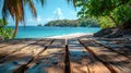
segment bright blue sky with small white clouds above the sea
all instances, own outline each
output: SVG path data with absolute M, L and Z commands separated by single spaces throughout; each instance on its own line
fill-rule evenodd
M 35 7 L 37 10 L 37 19 L 32 16 L 28 8 L 25 9 L 26 26 L 36 26 L 37 24 L 44 25 L 45 23 L 52 20 L 75 20 L 78 19 L 76 12 L 80 10 L 80 8 L 75 10 L 72 4 L 68 4 L 67 0 L 47 0 L 44 7 L 35 2 Z M 14 21 L 9 17 L 9 26 L 12 25 L 14 25 Z

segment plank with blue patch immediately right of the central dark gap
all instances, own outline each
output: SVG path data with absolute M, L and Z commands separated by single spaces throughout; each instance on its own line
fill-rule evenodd
M 74 44 L 73 47 L 71 44 Z M 69 44 L 71 73 L 110 73 L 110 71 L 90 52 L 87 52 L 79 41 Z M 103 70 L 102 70 L 103 69 Z

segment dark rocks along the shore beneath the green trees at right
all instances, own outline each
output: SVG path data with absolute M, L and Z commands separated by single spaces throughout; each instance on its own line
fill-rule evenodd
M 127 38 L 131 37 L 131 28 L 120 29 L 120 28 L 105 28 L 94 34 L 94 37 L 105 37 L 105 38 Z

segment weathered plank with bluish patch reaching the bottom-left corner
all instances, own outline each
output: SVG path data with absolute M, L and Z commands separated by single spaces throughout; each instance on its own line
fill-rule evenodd
M 41 46 L 32 45 L 32 46 L 24 48 L 23 50 L 19 52 L 15 52 L 15 53 L 12 53 L 5 57 L 4 59 L 2 59 L 3 63 L 1 63 L 0 65 L 0 72 L 5 71 L 3 73 L 9 73 L 9 72 L 10 73 L 13 73 L 13 72 L 23 73 L 23 71 L 21 70 L 25 69 L 26 63 L 28 63 L 32 59 L 34 59 L 35 56 L 37 56 L 40 52 L 40 50 L 43 50 L 41 48 L 39 49 L 39 47 Z M 33 50 L 31 49 L 36 49 L 35 50 L 36 52 L 33 52 Z

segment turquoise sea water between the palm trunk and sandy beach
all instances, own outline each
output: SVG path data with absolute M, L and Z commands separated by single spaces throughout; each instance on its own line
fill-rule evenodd
M 14 28 L 14 26 L 10 26 Z M 16 38 L 45 38 L 78 33 L 96 33 L 99 27 L 45 27 L 45 26 L 19 26 Z

